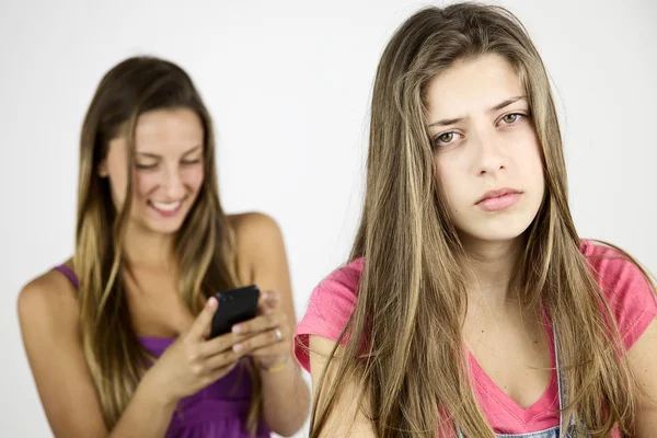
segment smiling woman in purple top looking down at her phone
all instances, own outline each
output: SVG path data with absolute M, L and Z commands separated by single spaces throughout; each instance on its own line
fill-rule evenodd
M 210 116 L 161 59 L 114 67 L 80 145 L 71 260 L 19 298 L 27 357 L 57 437 L 290 436 L 309 391 L 291 360 L 277 224 L 224 215 Z M 208 339 L 214 293 L 257 284 L 255 319 Z

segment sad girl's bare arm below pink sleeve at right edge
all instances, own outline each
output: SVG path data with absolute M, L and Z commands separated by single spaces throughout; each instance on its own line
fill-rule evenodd
M 657 430 L 657 320 L 653 320 L 627 356 L 641 388 L 635 436 L 654 437 Z

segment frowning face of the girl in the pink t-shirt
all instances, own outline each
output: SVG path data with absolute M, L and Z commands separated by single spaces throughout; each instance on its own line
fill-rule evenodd
M 537 216 L 545 183 L 516 71 L 498 55 L 458 61 L 431 80 L 427 97 L 436 177 L 461 239 L 519 237 Z

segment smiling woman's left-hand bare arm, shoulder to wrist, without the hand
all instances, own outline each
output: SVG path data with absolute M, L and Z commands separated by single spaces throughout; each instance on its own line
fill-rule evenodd
M 23 344 L 36 388 L 56 437 L 163 437 L 174 406 L 140 384 L 118 425 L 108 434 L 84 360 L 72 286 L 47 273 L 19 296 Z

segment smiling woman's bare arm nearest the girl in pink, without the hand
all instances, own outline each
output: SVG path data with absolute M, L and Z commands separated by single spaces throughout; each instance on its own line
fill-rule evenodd
M 246 275 L 243 275 L 246 278 L 243 280 L 255 283 L 262 291 L 274 290 L 279 298 L 277 313 L 286 326 L 286 349 L 283 354 L 287 356 L 287 362 L 275 367 L 278 369 L 276 372 L 261 370 L 260 377 L 265 423 L 276 434 L 291 436 L 308 418 L 310 391 L 301 376 L 301 368 L 292 357 L 291 336 L 297 319 L 283 235 L 276 222 L 261 214 L 242 215 L 239 219 L 233 219 L 233 223 L 239 263 L 247 267 Z M 262 338 L 266 339 L 265 336 Z M 254 342 L 257 344 L 258 339 L 253 338 L 251 345 L 245 344 L 245 353 L 254 354 L 255 360 L 258 360 L 257 350 L 251 350 L 257 347 Z

